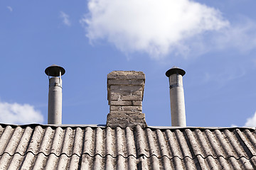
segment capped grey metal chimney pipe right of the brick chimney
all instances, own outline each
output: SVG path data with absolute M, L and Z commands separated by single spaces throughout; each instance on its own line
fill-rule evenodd
M 172 67 L 166 72 L 170 83 L 171 125 L 186 127 L 186 113 L 182 77 L 183 69 Z

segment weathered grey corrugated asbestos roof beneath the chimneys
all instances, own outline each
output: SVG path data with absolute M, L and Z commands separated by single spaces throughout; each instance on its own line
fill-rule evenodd
M 256 169 L 252 128 L 0 124 L 0 169 Z

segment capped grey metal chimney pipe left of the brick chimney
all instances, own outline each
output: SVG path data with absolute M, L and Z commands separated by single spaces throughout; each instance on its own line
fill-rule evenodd
M 62 123 L 62 79 L 65 69 L 58 65 L 47 67 L 46 75 L 49 79 L 48 94 L 48 124 Z M 50 78 L 51 77 L 51 78 Z

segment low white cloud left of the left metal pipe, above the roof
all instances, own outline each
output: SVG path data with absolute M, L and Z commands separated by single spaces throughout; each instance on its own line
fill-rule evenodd
M 0 102 L 0 122 L 9 124 L 43 123 L 43 115 L 29 104 Z

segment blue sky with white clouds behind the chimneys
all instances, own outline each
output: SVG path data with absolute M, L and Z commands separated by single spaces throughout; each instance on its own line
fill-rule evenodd
M 142 112 L 170 126 L 171 67 L 186 71 L 187 126 L 256 126 L 255 0 L 0 1 L 0 123 L 47 124 L 51 64 L 63 124 L 105 124 L 107 74 L 146 74 Z

